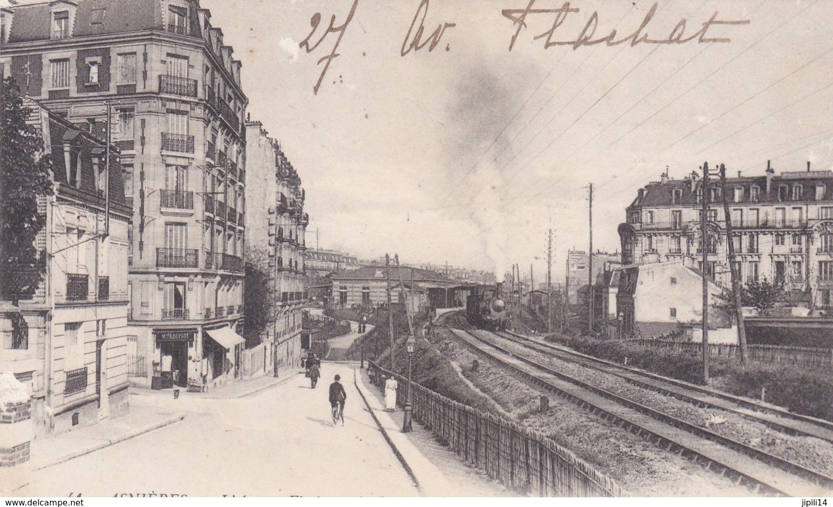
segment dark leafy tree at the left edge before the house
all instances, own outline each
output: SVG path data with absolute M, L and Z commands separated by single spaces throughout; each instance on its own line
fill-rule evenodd
M 52 157 L 42 134 L 27 124 L 11 77 L 0 90 L 0 299 L 31 299 L 45 274 L 46 253 L 37 251 L 37 233 L 46 226 L 39 198 L 52 195 Z

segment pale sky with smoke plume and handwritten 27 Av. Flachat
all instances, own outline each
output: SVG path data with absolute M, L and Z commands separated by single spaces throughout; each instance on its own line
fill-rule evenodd
M 590 184 L 594 251 L 612 252 L 626 206 L 666 167 L 833 166 L 833 2 L 658 0 L 640 36 L 696 37 L 615 46 L 554 42 L 594 22 L 590 40 L 625 39 L 653 1 L 574 0 L 559 15 L 562 0 L 536 0 L 551 12 L 523 26 L 502 14 L 530 3 L 202 0 L 242 61 L 247 111 L 302 177 L 308 246 L 499 279 L 532 265 L 542 281 L 552 228 L 558 281 L 566 251 L 588 248 Z

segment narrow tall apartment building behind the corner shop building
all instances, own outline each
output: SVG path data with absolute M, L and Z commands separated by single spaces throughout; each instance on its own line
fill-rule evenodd
M 249 206 L 247 246 L 266 251 L 262 259 L 276 305 L 267 343 L 265 367 L 276 371 L 301 360 L 302 306 L 307 302 L 305 241 L 309 215 L 304 212 L 306 192 L 280 144 L 269 137 L 261 122 L 247 122 Z

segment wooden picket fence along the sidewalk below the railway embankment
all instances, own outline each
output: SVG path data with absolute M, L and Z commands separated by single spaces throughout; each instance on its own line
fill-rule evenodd
M 407 379 L 372 361 L 372 378 L 393 375 L 397 403 L 405 405 Z M 539 431 L 412 384 L 413 419 L 490 479 L 536 496 L 625 496 L 616 481 Z

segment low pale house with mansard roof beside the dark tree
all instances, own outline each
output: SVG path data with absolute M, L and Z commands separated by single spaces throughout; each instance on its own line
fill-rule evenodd
M 0 311 L 0 371 L 32 396 L 39 434 L 127 412 L 127 223 L 118 153 L 32 100 L 29 124 L 52 155 L 54 194 L 38 209 L 42 282 Z M 109 201 L 107 206 L 106 201 Z

